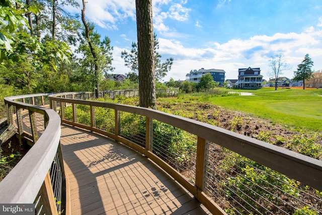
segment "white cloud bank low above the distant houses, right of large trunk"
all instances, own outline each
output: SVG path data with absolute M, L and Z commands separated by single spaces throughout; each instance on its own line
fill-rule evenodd
M 246 40 L 233 39 L 226 43 L 213 43 L 207 48 L 185 47 L 180 41 L 159 38 L 159 53 L 174 57 L 171 71 L 165 81 L 170 78 L 185 80 L 191 69 L 218 68 L 226 71 L 226 79 L 237 79 L 238 68 L 261 67 L 265 79 L 270 68 L 269 57 L 283 53 L 291 69 L 284 75 L 293 78 L 306 53 L 314 62 L 315 70 L 322 68 L 322 31 L 314 28 L 305 29 L 302 33 L 276 33 L 272 36 L 257 35 Z

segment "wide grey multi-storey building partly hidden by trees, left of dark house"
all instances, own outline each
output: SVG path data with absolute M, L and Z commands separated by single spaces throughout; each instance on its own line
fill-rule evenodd
M 211 68 L 211 69 L 201 68 L 198 71 L 196 69 L 191 70 L 190 73 L 186 75 L 186 80 L 190 82 L 199 83 L 201 77 L 208 73 L 210 73 L 210 75 L 212 76 L 212 79 L 215 82 L 219 82 L 219 85 L 223 85 L 223 83 L 225 82 L 226 72 L 223 69 L 215 69 L 215 68 Z

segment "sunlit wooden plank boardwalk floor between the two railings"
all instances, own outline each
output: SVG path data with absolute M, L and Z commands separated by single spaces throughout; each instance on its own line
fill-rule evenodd
M 171 176 L 108 137 L 61 126 L 71 214 L 209 214 Z

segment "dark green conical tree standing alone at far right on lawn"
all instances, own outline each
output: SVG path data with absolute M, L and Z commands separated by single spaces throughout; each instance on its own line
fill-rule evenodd
M 294 71 L 294 81 L 303 81 L 303 90 L 305 90 L 305 80 L 310 80 L 313 77 L 312 71 L 313 61 L 305 54 L 302 63 L 297 65 L 297 70 Z

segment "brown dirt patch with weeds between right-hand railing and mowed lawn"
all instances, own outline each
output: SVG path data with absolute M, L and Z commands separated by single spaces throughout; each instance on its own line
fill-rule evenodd
M 314 135 L 314 132 L 300 132 L 288 126 L 276 125 L 249 113 L 224 110 L 215 105 L 201 104 L 194 101 L 172 104 L 165 102 L 159 103 L 159 106 L 167 109 L 167 112 L 213 124 L 283 148 L 287 148 L 287 142 L 282 141 L 283 139 L 290 139 L 295 135 L 304 135 L 306 137 Z M 322 145 L 321 136 L 321 134 L 316 136 L 316 144 Z M 322 160 L 321 157 L 319 158 L 320 160 Z

